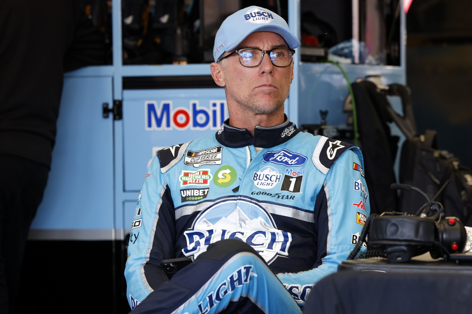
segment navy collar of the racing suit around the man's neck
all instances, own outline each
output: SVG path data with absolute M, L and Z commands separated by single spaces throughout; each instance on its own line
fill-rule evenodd
M 287 142 L 298 132 L 295 123 L 288 121 L 288 117 L 284 114 L 284 122 L 273 127 L 261 127 L 256 125 L 254 128 L 254 136 L 247 129 L 238 129 L 229 126 L 229 119 L 221 125 L 216 133 L 216 140 L 221 145 L 231 148 L 240 148 L 244 146 L 254 145 L 255 147 L 270 148 Z

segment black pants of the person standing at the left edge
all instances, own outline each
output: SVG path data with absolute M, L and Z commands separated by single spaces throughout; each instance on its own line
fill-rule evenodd
M 48 172 L 41 163 L 0 155 L 0 313 L 14 313 L 18 302 L 26 238 Z

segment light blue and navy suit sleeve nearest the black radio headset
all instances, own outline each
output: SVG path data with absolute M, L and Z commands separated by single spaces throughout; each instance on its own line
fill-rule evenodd
M 318 251 L 312 269 L 277 275 L 301 307 L 312 286 L 336 272 L 337 266 L 349 256 L 354 248 L 353 236 L 362 231 L 369 216 L 365 179 L 353 169 L 353 163 L 362 164 L 352 150 L 341 155 L 329 169 L 317 195 L 314 207 Z

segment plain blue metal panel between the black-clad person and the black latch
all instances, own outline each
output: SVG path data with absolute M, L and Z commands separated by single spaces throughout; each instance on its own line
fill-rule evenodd
M 56 145 L 32 229 L 113 228 L 111 77 L 66 78 Z

